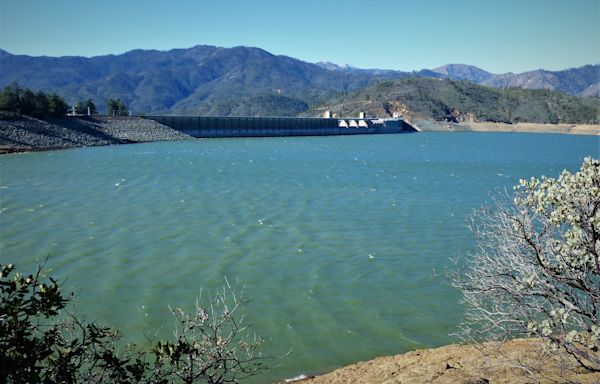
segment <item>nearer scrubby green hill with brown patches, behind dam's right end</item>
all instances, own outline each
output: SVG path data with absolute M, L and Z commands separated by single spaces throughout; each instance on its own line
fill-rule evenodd
M 468 81 L 405 78 L 370 85 L 320 104 L 306 115 L 430 118 L 504 123 L 600 123 L 600 98 L 544 89 L 489 88 Z

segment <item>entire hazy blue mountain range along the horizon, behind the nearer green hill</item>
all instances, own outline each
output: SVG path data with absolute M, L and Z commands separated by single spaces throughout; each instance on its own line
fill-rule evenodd
M 0 50 L 0 87 L 18 82 L 56 92 L 71 104 L 92 98 L 101 112 L 106 100 L 121 98 L 134 114 L 296 116 L 374 83 L 407 77 L 544 88 L 577 96 L 600 92 L 600 64 L 498 75 L 463 64 L 416 72 L 313 64 L 251 47 L 199 45 L 91 58 L 32 57 Z

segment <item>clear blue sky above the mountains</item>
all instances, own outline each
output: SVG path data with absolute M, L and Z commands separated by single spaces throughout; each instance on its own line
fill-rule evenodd
M 198 44 L 361 68 L 560 70 L 600 63 L 600 0 L 0 0 L 0 48 L 15 54 Z

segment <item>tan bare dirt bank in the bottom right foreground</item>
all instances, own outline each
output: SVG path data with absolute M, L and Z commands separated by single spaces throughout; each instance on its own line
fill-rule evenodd
M 586 384 L 600 383 L 600 373 L 586 373 L 574 359 L 545 352 L 540 340 L 515 339 L 505 343 L 448 345 L 378 357 L 294 383 Z

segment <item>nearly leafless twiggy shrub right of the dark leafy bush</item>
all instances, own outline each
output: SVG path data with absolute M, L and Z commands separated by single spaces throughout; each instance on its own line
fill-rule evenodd
M 220 384 L 238 383 L 265 371 L 263 339 L 249 332 L 241 313 L 243 291 L 238 294 L 226 280 L 206 305 L 202 299 L 201 293 L 193 314 L 171 308 L 175 340 L 159 342 L 154 349 L 170 374 L 184 383 Z

